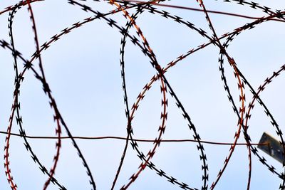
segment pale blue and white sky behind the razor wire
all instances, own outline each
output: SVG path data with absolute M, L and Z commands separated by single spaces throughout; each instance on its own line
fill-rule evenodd
M 285 4 L 282 1 L 256 2 L 272 9 L 283 9 Z M 0 10 L 16 3 L 17 1 L 1 1 Z M 88 1 L 86 4 L 101 12 L 112 9 L 106 2 Z M 196 1 L 170 1 L 167 4 L 199 8 Z M 234 3 L 207 0 L 204 4 L 209 10 L 265 16 L 259 10 Z M 32 7 L 40 44 L 73 23 L 92 16 L 76 6 L 67 4 L 66 1 L 43 1 L 32 4 Z M 157 9 L 169 11 L 211 33 L 203 13 L 162 7 L 157 7 Z M 8 16 L 8 13 L 0 16 L 0 38 L 5 41 L 9 41 Z M 25 58 L 30 58 L 35 51 L 28 16 L 28 11 L 24 7 L 14 18 L 16 49 Z M 218 36 L 252 21 L 214 14 L 210 14 L 210 17 Z M 126 19 L 120 13 L 109 18 L 118 21 L 120 26 L 125 26 Z M 163 66 L 182 53 L 207 42 L 195 31 L 158 15 L 146 12 L 139 16 L 137 22 L 155 52 L 157 60 Z M 239 69 L 255 89 L 271 76 L 273 71 L 279 70 L 284 64 L 284 29 L 284 23 L 281 22 L 261 23 L 256 28 L 237 36 L 229 45 L 229 55 L 236 60 Z M 135 30 L 132 28 L 130 32 L 134 34 Z M 110 28 L 102 19 L 95 20 L 63 36 L 41 54 L 48 84 L 61 115 L 74 136 L 126 136 L 125 106 L 120 78 L 120 38 L 121 35 L 115 28 Z M 6 131 L 13 98 L 14 70 L 11 52 L 1 49 L 0 56 L 0 130 Z M 203 140 L 232 142 L 234 132 L 237 130 L 237 117 L 232 111 L 232 105 L 227 99 L 227 93 L 220 79 L 218 58 L 219 49 L 208 46 L 171 68 L 166 73 L 166 77 Z M 21 64 L 22 62 L 19 61 L 20 67 Z M 38 69 L 38 62 L 34 65 Z M 237 102 L 239 98 L 237 80 L 227 62 L 225 62 L 225 72 L 229 88 Z M 130 41 L 127 42 L 125 48 L 125 73 L 131 106 L 156 72 L 151 67 L 148 58 Z M 284 130 L 285 125 L 282 111 L 285 106 L 284 79 L 282 73 L 261 94 L 262 100 L 269 107 L 281 130 Z M 41 88 L 41 83 L 33 77 L 33 74 L 27 73 L 21 85 L 20 96 L 24 128 L 28 135 L 53 136 L 56 123 L 53 122 L 53 111 L 48 105 L 48 97 L 44 95 Z M 248 88 L 246 96 L 246 105 L 248 105 L 252 100 Z M 135 114 L 134 137 L 155 139 L 160 125 L 161 98 L 160 83 L 156 83 L 147 93 Z M 168 99 L 167 128 L 163 139 L 192 139 L 193 134 L 188 129 L 187 122 L 183 120 L 180 110 L 175 106 L 175 101 L 170 95 Z M 238 103 L 237 106 L 239 106 Z M 12 131 L 19 132 L 16 123 Z M 271 127 L 264 111 L 256 104 L 252 119 L 249 120 L 249 134 L 252 142 L 258 142 L 264 131 L 276 137 L 275 130 Z M 66 136 L 64 130 L 63 136 Z M 1 134 L 0 147 L 4 148 L 4 140 L 5 135 Z M 23 139 L 19 137 L 11 137 L 10 167 L 14 181 L 19 189 L 41 189 L 47 176 L 44 176 L 33 162 L 23 142 Z M 55 154 L 56 140 L 35 139 L 29 142 L 41 162 L 50 168 Z M 98 189 L 110 189 L 125 142 L 114 139 L 78 139 L 76 142 L 92 170 Z M 239 142 L 244 142 L 242 136 Z M 139 145 L 145 153 L 152 148 L 152 143 L 139 143 Z M 222 167 L 229 146 L 204 144 L 204 149 L 209 165 L 210 185 Z M 264 153 L 261 155 L 266 157 L 269 164 L 274 165 L 277 171 L 282 171 L 279 162 Z M 189 184 L 190 187 L 200 189 L 202 186 L 201 163 L 195 143 L 161 143 L 152 162 L 157 168 Z M 6 181 L 3 165 L 4 162 L 0 169 L 0 189 L 6 190 L 9 189 L 9 184 Z M 139 165 L 140 159 L 136 156 L 136 152 L 129 148 L 115 189 L 120 189 L 123 184 L 127 184 L 128 178 L 137 171 Z M 247 172 L 247 148 L 236 147 L 216 189 L 246 189 Z M 81 159 L 78 158 L 76 150 L 68 139 L 64 139 L 62 143 L 56 179 L 67 189 L 90 189 Z M 279 189 L 280 182 L 277 176 L 271 174 L 256 157 L 253 157 L 252 189 Z M 57 187 L 51 184 L 49 189 L 57 189 Z M 157 176 L 154 171 L 145 169 L 130 189 L 179 188 Z

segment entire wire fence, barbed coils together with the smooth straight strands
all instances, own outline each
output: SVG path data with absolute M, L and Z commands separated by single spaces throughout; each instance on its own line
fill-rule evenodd
M 276 135 L 279 137 L 279 142 L 281 144 L 281 147 L 283 149 L 283 152 L 285 152 L 285 143 L 283 134 L 281 132 L 280 125 L 276 122 L 276 119 L 274 118 L 274 115 L 269 111 L 269 108 L 266 106 L 264 100 L 261 99 L 261 93 L 264 91 L 264 89 L 275 79 L 278 78 L 279 75 L 283 74 L 283 71 L 285 70 L 285 65 L 281 65 L 280 68 L 274 71 L 271 75 L 269 75 L 268 78 L 264 80 L 264 83 L 262 83 L 259 88 L 254 89 L 251 83 L 249 83 L 249 80 L 245 77 L 245 75 L 239 70 L 238 64 L 232 58 L 232 56 L 229 54 L 229 51 L 227 48 L 229 47 L 229 44 L 236 38 L 239 34 L 244 33 L 244 31 L 252 30 L 256 26 L 265 23 L 267 21 L 274 21 L 274 22 L 284 22 L 285 21 L 285 11 L 280 10 L 273 10 L 270 9 L 267 6 L 263 6 L 261 4 L 257 4 L 253 1 L 244 1 L 244 0 L 225 0 L 225 2 L 229 4 L 237 3 L 241 6 L 247 6 L 250 9 L 253 9 L 254 11 L 261 11 L 263 12 L 263 15 L 260 17 L 257 16 L 248 16 L 243 14 L 234 14 L 232 12 L 223 12 L 223 11 L 212 11 L 208 10 L 206 8 L 207 2 L 203 2 L 202 0 L 197 0 L 197 4 L 199 5 L 199 9 L 187 7 L 187 6 L 177 6 L 171 4 L 172 1 L 165 1 L 165 0 L 154 0 L 154 1 L 99 1 L 98 2 L 108 2 L 113 7 L 112 11 L 106 11 L 106 12 L 100 12 L 96 9 L 94 6 L 88 6 L 86 1 L 76 1 L 76 0 L 68 0 L 68 4 L 71 4 L 73 6 L 76 6 L 77 8 L 81 9 L 82 11 L 85 11 L 87 13 L 92 14 L 93 16 L 88 17 L 84 21 L 78 21 L 76 23 L 73 23 L 72 26 L 68 28 L 64 28 L 60 33 L 56 33 L 54 36 L 51 37 L 49 41 L 46 41 L 45 43 L 40 44 L 38 40 L 38 31 L 37 31 L 37 25 L 36 25 L 36 16 L 33 14 L 33 3 L 37 2 L 38 4 L 41 4 L 43 0 L 26 0 L 26 1 L 19 1 L 17 4 L 11 5 L 7 7 L 4 10 L 0 10 L 1 16 L 9 16 L 8 19 L 8 29 L 9 29 L 9 38 L 10 41 L 0 40 L 0 46 L 5 51 L 9 51 L 12 56 L 14 65 L 14 75 L 15 75 L 15 83 L 14 83 L 14 97 L 13 97 L 13 103 L 11 107 L 11 115 L 9 117 L 9 125 L 7 127 L 6 132 L 1 131 L 0 133 L 3 135 L 6 135 L 5 138 L 5 147 L 4 147 L 4 167 L 5 167 L 5 174 L 7 181 L 9 185 L 11 186 L 11 189 L 21 189 L 21 186 L 16 185 L 16 179 L 13 178 L 13 169 L 11 169 L 11 166 L 13 165 L 13 162 L 11 162 L 9 153 L 13 151 L 10 149 L 10 142 L 11 137 L 21 137 L 24 140 L 24 145 L 26 149 L 28 150 L 28 154 L 31 154 L 31 158 L 33 161 L 38 165 L 39 169 L 43 171 L 43 174 L 46 175 L 46 183 L 43 184 L 43 189 L 48 189 L 48 186 L 50 186 L 51 182 L 58 186 L 58 189 L 66 189 L 63 184 L 61 184 L 61 179 L 57 179 L 55 172 L 58 166 L 58 160 L 60 159 L 60 152 L 61 152 L 61 143 L 62 139 L 70 139 L 73 143 L 73 147 L 78 152 L 78 157 L 83 162 L 83 168 L 86 169 L 86 180 L 90 183 L 91 189 L 96 189 L 95 179 L 93 176 L 93 173 L 88 166 L 88 162 L 90 160 L 87 160 L 83 153 L 81 152 L 81 149 L 78 145 L 78 142 L 76 139 L 120 139 L 125 141 L 125 147 L 122 150 L 122 156 L 120 159 L 120 164 L 118 165 L 118 169 L 115 173 L 115 177 L 113 179 L 112 187 L 111 189 L 128 189 L 130 186 L 132 186 L 135 181 L 139 178 L 140 174 L 146 169 L 149 168 L 152 171 L 155 171 L 155 173 L 159 176 L 161 176 L 166 181 L 169 181 L 174 186 L 177 186 L 177 188 L 180 189 L 214 189 L 217 184 L 219 183 L 220 179 L 222 178 L 224 171 L 227 169 L 227 166 L 229 164 L 229 160 L 232 158 L 232 155 L 234 154 L 234 150 L 237 145 L 246 146 L 248 149 L 248 176 L 247 176 L 247 189 L 250 189 L 251 185 L 251 179 L 252 179 L 252 157 L 257 157 L 259 159 L 260 164 L 263 164 L 264 167 L 269 169 L 271 173 L 273 173 L 275 176 L 279 177 L 281 179 L 281 184 L 279 189 L 285 189 L 285 174 L 283 172 L 276 171 L 276 168 L 273 167 L 269 162 L 266 161 L 264 157 L 261 156 L 260 152 L 257 149 L 257 145 L 264 145 L 269 146 L 268 143 L 257 143 L 252 142 L 252 139 L 249 137 L 249 120 L 252 115 L 252 110 L 254 109 L 255 104 L 259 104 L 264 112 L 266 113 L 266 116 L 268 117 L 268 120 L 271 122 L 272 127 L 276 131 Z M 170 3 L 169 3 L 170 2 Z M 17 51 L 16 45 L 14 42 L 14 16 L 17 14 L 17 11 L 19 9 L 26 8 L 28 9 L 28 14 L 30 16 L 31 20 L 31 26 L 33 28 L 33 37 L 34 37 L 34 43 L 35 43 L 35 51 L 31 58 L 27 59 L 24 56 L 22 56 L 21 52 Z M 186 19 L 176 16 L 170 12 L 165 11 L 164 9 L 183 9 L 183 10 L 189 10 L 189 11 L 199 11 L 204 14 L 205 21 L 207 21 L 210 33 L 206 32 L 206 29 L 199 28 L 198 26 L 195 26 L 194 23 L 191 23 L 190 21 L 187 21 Z M 131 14 L 132 13 L 132 14 Z M 187 51 L 187 53 L 181 54 L 176 59 L 172 60 L 170 63 L 168 63 L 165 67 L 162 67 L 162 65 L 157 60 L 157 57 L 155 55 L 155 51 L 152 49 L 152 46 L 150 45 L 150 42 L 147 40 L 147 36 L 145 36 L 144 31 L 140 28 L 139 24 L 137 23 L 138 18 L 142 17 L 142 13 L 147 13 L 151 15 L 157 15 L 161 16 L 162 18 L 175 21 L 176 23 L 179 23 L 181 26 L 185 26 L 189 28 L 190 30 L 194 31 L 195 33 L 199 34 L 202 38 L 207 40 L 207 43 L 203 43 L 197 48 L 193 48 L 190 51 Z M 219 14 L 222 16 L 234 16 L 238 17 L 240 19 L 248 19 L 249 23 L 245 23 L 243 26 L 239 26 L 238 28 L 235 28 L 233 31 L 229 31 L 227 33 L 224 33 L 221 36 L 217 35 L 217 28 L 212 23 L 211 16 L 209 14 Z M 125 26 L 120 26 L 120 24 L 115 19 L 110 19 L 110 16 L 113 15 L 123 15 L 125 16 L 125 19 L 127 21 Z M 108 24 L 111 28 L 117 30 L 122 38 L 120 41 L 120 73 L 122 78 L 122 89 L 123 89 L 123 100 L 125 102 L 125 115 L 128 122 L 127 137 L 115 137 L 115 136 L 106 136 L 106 137 L 78 137 L 74 136 L 72 134 L 72 130 L 68 125 L 66 124 L 66 121 L 63 119 L 63 116 L 61 115 L 61 112 L 58 109 L 58 104 L 56 103 L 55 97 L 53 97 L 53 94 L 51 93 L 51 88 L 48 85 L 48 81 L 46 80 L 45 76 L 45 70 L 43 69 L 43 60 L 41 58 L 41 53 L 44 51 L 48 51 L 48 48 L 50 46 L 53 46 L 53 43 L 55 41 L 60 41 L 63 36 L 68 35 L 69 33 L 73 33 L 73 31 L 76 31 L 78 28 L 81 28 L 86 23 L 90 23 L 95 20 L 102 20 L 105 23 Z M 131 33 L 131 30 L 135 30 L 135 34 Z M 127 79 L 125 78 L 125 46 L 127 43 L 127 40 L 131 41 L 133 45 L 138 48 L 142 53 L 150 60 L 150 65 L 155 70 L 156 74 L 150 79 L 150 81 L 145 85 L 145 87 L 142 89 L 142 91 L 138 94 L 137 99 L 131 105 L 128 98 L 128 91 L 127 91 Z M 192 54 L 196 53 L 197 51 L 201 51 L 202 49 L 206 48 L 207 46 L 214 45 L 219 50 L 219 72 L 222 78 L 222 83 L 224 85 L 224 90 L 227 95 L 227 98 L 229 99 L 229 102 L 232 105 L 232 111 L 237 117 L 237 130 L 234 133 L 234 142 L 210 142 L 199 135 L 199 127 L 194 125 L 194 123 L 191 120 L 191 115 L 187 112 L 187 109 L 185 108 L 185 105 L 180 100 L 177 93 L 175 93 L 174 88 L 172 88 L 172 85 L 170 85 L 171 78 L 167 78 L 166 73 L 173 68 L 175 65 L 180 63 L 182 60 L 185 60 L 185 58 L 188 58 L 192 56 Z M 21 70 L 19 67 L 19 62 L 24 63 L 24 68 Z M 39 70 L 36 70 L 36 62 L 38 62 L 38 68 Z M 225 75 L 225 68 L 224 63 L 228 63 L 229 67 L 232 68 L 232 72 L 234 73 L 234 80 L 235 83 L 237 83 L 237 89 L 238 94 L 232 93 L 232 88 L 228 85 L 228 77 Z M 23 126 L 23 116 L 21 115 L 21 103 L 19 101 L 19 95 L 20 95 L 20 88 L 24 81 L 24 78 L 26 77 L 26 74 L 28 72 L 33 73 L 35 78 L 41 82 L 43 87 L 43 92 L 46 94 L 49 100 L 49 104 L 51 107 L 51 110 L 53 111 L 54 115 L 54 121 L 56 122 L 56 136 L 50 137 L 50 136 L 33 136 L 33 135 L 27 135 L 24 126 Z M 158 133 L 155 139 L 136 139 L 133 135 L 133 126 L 132 122 L 135 117 L 135 113 L 139 110 L 140 103 L 142 102 L 145 95 L 150 91 L 152 86 L 155 83 L 160 83 L 160 92 L 161 92 L 161 115 L 160 115 L 160 126 L 158 127 Z M 247 100 L 248 105 L 246 103 L 246 90 L 249 90 L 252 94 L 252 100 Z M 238 98 L 239 102 L 235 102 L 234 98 Z M 247 95 L 247 98 L 250 96 Z M 189 127 L 190 133 L 193 135 L 193 139 L 165 139 L 163 138 L 163 134 L 165 133 L 166 129 L 166 123 L 167 123 L 167 112 L 168 112 L 168 98 L 172 98 L 173 101 L 175 101 L 175 104 L 177 105 L 178 109 L 180 110 L 182 117 L 185 119 L 185 122 L 187 123 L 187 126 Z M 18 125 L 19 127 L 19 134 L 12 132 L 12 127 L 16 127 L 14 125 Z M 62 136 L 62 131 L 66 130 L 67 136 Z M 238 143 L 238 139 L 244 137 L 246 143 Z M 38 158 L 36 153 L 33 151 L 33 147 L 31 144 L 29 144 L 28 139 L 56 139 L 56 152 L 53 156 L 53 164 L 50 169 L 47 169 L 46 166 L 44 166 L 43 162 L 41 162 L 41 159 Z M 152 142 L 153 146 L 150 149 L 149 152 L 145 153 L 141 151 L 141 148 L 139 147 L 139 144 L 137 142 Z M 162 171 L 162 169 L 156 167 L 156 164 L 152 162 L 152 158 L 155 156 L 155 153 L 157 152 L 157 149 L 159 149 L 161 143 L 165 142 L 195 142 L 197 144 L 197 151 L 199 152 L 199 159 L 200 164 L 202 168 L 202 186 L 197 188 L 192 186 L 191 184 L 187 184 L 186 182 L 179 181 L 177 178 L 179 176 L 172 176 L 168 174 L 166 171 Z M 221 169 L 219 170 L 219 173 L 217 174 L 216 179 L 214 181 L 211 181 L 209 183 L 209 167 L 208 167 L 208 160 L 206 156 L 207 150 L 204 149 L 204 144 L 216 144 L 216 145 L 228 145 L 230 146 L 229 152 L 227 154 L 227 157 L 224 158 L 224 164 L 222 165 Z M 138 171 L 135 171 L 133 175 L 130 176 L 129 180 L 125 182 L 125 185 L 123 186 L 116 186 L 118 178 L 120 177 L 120 172 L 123 168 L 123 163 L 125 161 L 125 157 L 127 154 L 128 147 L 132 147 L 133 151 L 138 154 L 138 158 L 141 160 L 141 164 L 138 167 Z M 285 170 L 285 163 L 283 163 L 283 170 Z M 97 181 L 100 183 L 100 181 Z M 2 186 L 2 184 L 0 185 Z M 4 186 L 4 185 L 3 185 Z M 2 189 L 2 187 L 1 187 Z M 38 189 L 38 187 L 37 187 Z

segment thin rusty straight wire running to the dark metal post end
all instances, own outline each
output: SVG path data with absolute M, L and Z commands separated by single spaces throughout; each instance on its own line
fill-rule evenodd
M 7 132 L 0 131 L 0 134 L 8 134 Z M 58 139 L 58 137 L 47 137 L 47 136 L 28 136 L 28 135 L 21 135 L 16 133 L 10 133 L 12 136 L 16 137 L 26 137 L 28 139 Z M 61 137 L 61 139 L 71 139 L 71 137 Z M 73 137 L 73 139 L 120 139 L 126 140 L 125 137 Z M 157 140 L 151 139 L 133 139 L 136 142 L 157 142 Z M 160 142 L 197 142 L 195 139 L 162 139 Z M 202 141 L 200 142 L 204 144 L 217 144 L 217 145 L 233 145 L 232 143 L 227 142 L 209 142 L 209 141 Z M 252 145 L 261 145 L 261 146 L 268 146 L 268 143 L 251 143 Z M 247 145 L 247 143 L 237 143 L 237 145 Z

